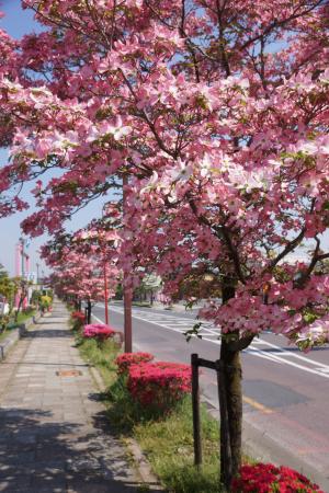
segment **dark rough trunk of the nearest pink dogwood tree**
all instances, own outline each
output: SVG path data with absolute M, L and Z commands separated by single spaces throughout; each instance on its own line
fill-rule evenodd
M 223 303 L 235 296 L 235 287 L 224 282 Z M 239 339 L 239 333 L 230 333 L 228 340 L 224 334 L 220 344 L 220 378 L 223 379 L 220 399 L 220 415 L 227 416 L 228 429 L 220 433 L 220 481 L 230 491 L 232 478 L 241 466 L 242 437 L 242 389 L 240 352 L 234 351 L 231 345 Z M 219 393 L 220 397 L 220 393 Z M 225 423 L 223 423 L 225 426 Z M 222 426 L 222 424 L 220 424 Z

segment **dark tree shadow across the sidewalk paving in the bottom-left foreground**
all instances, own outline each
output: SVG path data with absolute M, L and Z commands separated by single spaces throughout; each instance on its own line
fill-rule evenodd
M 56 422 L 47 411 L 0 409 L 1 492 L 133 493 L 138 486 L 104 421 L 79 425 Z

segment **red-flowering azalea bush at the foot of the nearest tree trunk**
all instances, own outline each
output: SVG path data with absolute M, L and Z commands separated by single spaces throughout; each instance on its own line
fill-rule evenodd
M 305 475 L 272 463 L 256 463 L 242 466 L 239 478 L 231 484 L 232 493 L 325 493 L 317 484 Z

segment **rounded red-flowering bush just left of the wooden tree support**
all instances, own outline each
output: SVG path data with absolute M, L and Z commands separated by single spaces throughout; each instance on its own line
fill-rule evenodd
M 132 365 L 127 388 L 139 404 L 169 411 L 191 392 L 191 367 L 168 362 Z

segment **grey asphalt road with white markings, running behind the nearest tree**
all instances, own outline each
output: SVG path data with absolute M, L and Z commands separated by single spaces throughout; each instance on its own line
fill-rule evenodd
M 93 314 L 104 321 L 104 305 L 94 307 Z M 109 314 L 110 324 L 123 330 L 123 307 L 111 305 Z M 186 343 L 183 332 L 193 326 L 194 317 L 195 312 L 133 308 L 134 351 L 179 363 L 190 363 L 191 353 L 217 359 L 218 329 L 211 323 L 205 323 L 202 340 Z M 287 345 L 284 336 L 262 334 L 242 352 L 242 369 L 248 429 L 259 434 L 265 449 L 270 439 L 272 460 L 298 465 L 329 492 L 329 346 L 306 355 Z M 202 388 L 206 400 L 218 408 L 212 370 L 203 369 Z

